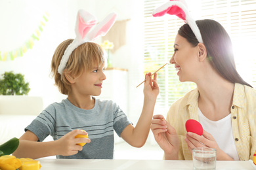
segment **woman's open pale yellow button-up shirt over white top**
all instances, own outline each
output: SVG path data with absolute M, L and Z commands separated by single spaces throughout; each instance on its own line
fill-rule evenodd
M 179 160 L 192 160 L 185 139 L 185 123 L 198 120 L 198 90 L 194 89 L 171 105 L 167 122 L 175 127 L 180 140 Z M 232 130 L 240 160 L 253 160 L 256 150 L 256 90 L 236 83 L 231 110 Z M 221 129 L 220 129 L 221 131 Z

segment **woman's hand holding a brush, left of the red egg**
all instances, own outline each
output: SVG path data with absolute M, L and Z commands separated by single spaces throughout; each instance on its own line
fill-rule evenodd
M 151 130 L 156 142 L 165 152 L 165 160 L 179 159 L 179 137 L 173 126 L 163 118 L 163 115 L 153 116 Z

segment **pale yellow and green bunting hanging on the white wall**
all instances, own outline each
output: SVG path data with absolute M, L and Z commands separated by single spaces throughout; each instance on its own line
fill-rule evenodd
M 24 42 L 20 47 L 14 48 L 9 51 L 0 51 L 0 61 L 13 61 L 15 58 L 22 57 L 28 50 L 31 50 L 35 44 L 35 41 L 39 41 L 43 27 L 45 27 L 46 22 L 48 22 L 49 13 L 45 12 L 43 14 L 42 20 L 39 22 L 39 26 L 32 33 L 31 37 L 28 38 L 28 41 Z

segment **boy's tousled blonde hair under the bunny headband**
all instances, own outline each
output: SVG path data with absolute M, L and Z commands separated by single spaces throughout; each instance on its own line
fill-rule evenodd
M 95 65 L 100 65 L 101 63 L 106 65 L 106 56 L 104 56 L 102 47 L 95 42 L 85 42 L 75 48 L 68 59 L 64 72 L 60 75 L 58 73 L 60 60 L 62 59 L 64 51 L 72 41 L 74 41 L 74 39 L 68 39 L 58 45 L 53 54 L 51 63 L 51 75 L 54 77 L 55 85 L 58 86 L 60 93 L 66 95 L 70 92 L 70 82 L 66 76 L 78 78 L 82 75 L 83 71 L 89 71 L 93 69 Z

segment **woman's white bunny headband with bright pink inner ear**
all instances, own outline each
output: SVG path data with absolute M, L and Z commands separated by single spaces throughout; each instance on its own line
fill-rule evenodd
M 193 20 L 189 13 L 188 9 L 186 9 L 186 2 L 184 0 L 170 0 L 169 2 L 161 5 L 157 9 L 155 9 L 152 13 L 154 17 L 156 16 L 163 16 L 164 14 L 170 14 L 170 15 L 176 15 L 186 24 L 190 26 L 192 29 L 194 35 L 196 36 L 196 39 L 198 39 L 198 42 L 203 43 L 202 35 L 200 33 L 200 30 L 198 28 L 198 25 L 196 25 L 196 21 Z

